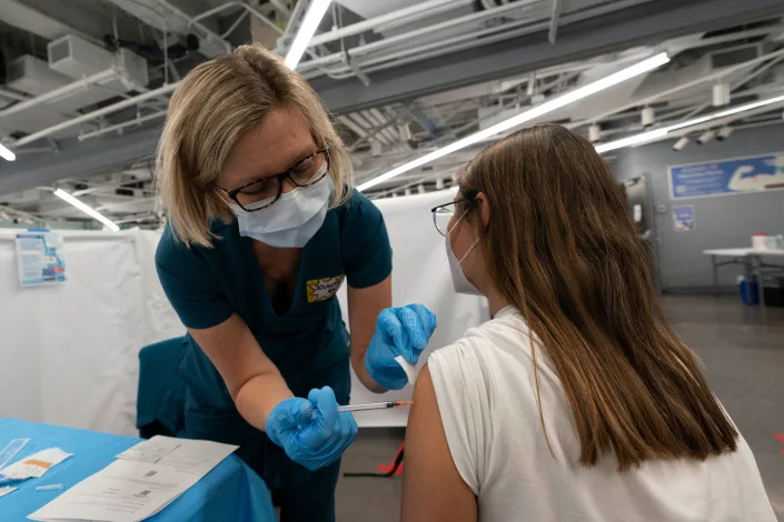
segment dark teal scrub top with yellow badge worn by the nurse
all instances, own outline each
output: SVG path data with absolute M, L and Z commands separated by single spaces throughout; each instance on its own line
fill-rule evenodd
M 167 224 L 156 252 L 158 277 L 182 323 L 206 329 L 237 313 L 295 395 L 333 385 L 345 390 L 339 400 L 348 400 L 349 337 L 336 294 L 344 280 L 361 289 L 391 273 L 391 248 L 378 208 L 353 190 L 344 204 L 327 212 L 301 251 L 291 305 L 284 315 L 272 308 L 252 240 L 239 235 L 236 221 L 215 220 L 210 229 L 217 235 L 212 248 L 187 248 Z M 180 374 L 189 400 L 199 406 L 234 409 L 222 379 L 200 349 L 186 350 Z

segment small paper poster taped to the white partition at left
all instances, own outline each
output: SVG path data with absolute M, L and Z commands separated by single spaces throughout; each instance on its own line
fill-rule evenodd
M 62 235 L 49 230 L 28 230 L 17 234 L 19 284 L 36 287 L 66 281 Z

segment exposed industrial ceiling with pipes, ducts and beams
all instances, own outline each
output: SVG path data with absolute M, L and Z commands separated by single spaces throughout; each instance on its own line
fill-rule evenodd
M 307 1 L 0 0 L 0 221 L 92 227 L 163 219 L 152 157 L 168 97 L 195 64 L 247 41 L 284 52 Z M 609 141 L 784 93 L 780 0 L 336 0 L 298 67 L 335 114 L 357 184 L 655 52 L 672 61 L 547 116 Z M 781 121 L 771 106 L 728 121 Z M 379 184 L 448 187 L 467 149 Z

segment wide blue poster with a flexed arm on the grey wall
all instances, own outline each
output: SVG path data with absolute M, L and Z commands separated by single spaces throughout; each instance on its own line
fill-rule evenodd
M 668 169 L 673 200 L 784 189 L 784 152 L 674 165 Z

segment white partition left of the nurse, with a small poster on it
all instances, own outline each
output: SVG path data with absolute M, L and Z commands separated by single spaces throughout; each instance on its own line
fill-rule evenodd
M 0 231 L 0 416 L 135 434 L 139 349 L 183 333 L 159 234 L 62 231 L 68 281 L 20 288 L 17 232 Z

